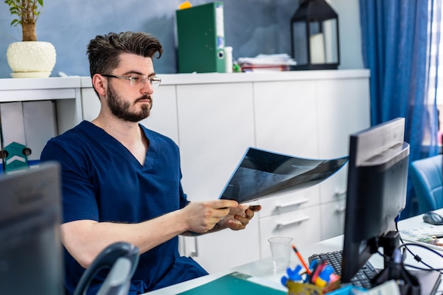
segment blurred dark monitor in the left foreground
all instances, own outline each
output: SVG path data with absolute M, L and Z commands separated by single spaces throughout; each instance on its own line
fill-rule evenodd
M 49 162 L 0 177 L 0 294 L 64 294 L 59 178 Z

